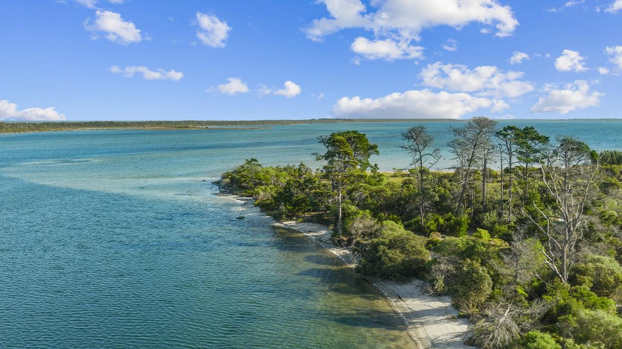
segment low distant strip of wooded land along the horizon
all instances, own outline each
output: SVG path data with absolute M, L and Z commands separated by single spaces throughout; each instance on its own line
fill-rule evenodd
M 452 119 L 308 119 L 308 120 L 185 120 L 185 121 L 85 121 L 0 122 L 0 133 L 86 129 L 200 129 L 210 126 L 262 126 L 295 124 L 347 124 L 351 122 L 456 122 Z

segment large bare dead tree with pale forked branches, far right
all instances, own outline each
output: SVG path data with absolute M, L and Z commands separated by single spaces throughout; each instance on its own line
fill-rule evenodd
M 542 233 L 544 263 L 562 281 L 577 261 L 577 245 L 587 229 L 583 209 L 595 192 L 598 161 L 592 163 L 590 148 L 580 140 L 563 137 L 540 161 L 542 184 L 549 196 L 546 207 L 532 202 L 534 214 L 523 212 Z

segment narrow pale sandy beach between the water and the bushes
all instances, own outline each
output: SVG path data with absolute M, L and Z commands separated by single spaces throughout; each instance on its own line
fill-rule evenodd
M 246 220 L 263 222 L 274 227 L 303 233 L 313 242 L 337 256 L 344 265 L 352 269 L 355 268 L 356 257 L 351 249 L 333 245 L 330 240 L 331 230 L 325 225 L 295 221 L 279 222 L 270 215 L 261 212 L 259 207 L 254 206 L 252 197 L 228 193 L 215 193 L 214 195 L 240 204 L 236 218 L 244 217 Z M 409 336 L 414 340 L 418 349 L 476 348 L 464 344 L 464 340 L 470 331 L 470 324 L 468 320 L 458 318 L 458 312 L 453 308 L 449 297 L 424 294 L 421 291 L 423 282 L 417 279 L 407 283 L 396 283 L 376 278 L 365 279 L 391 302 L 394 310 L 402 317 Z

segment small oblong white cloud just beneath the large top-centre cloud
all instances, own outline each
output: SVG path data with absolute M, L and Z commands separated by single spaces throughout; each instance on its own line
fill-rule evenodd
M 420 46 L 409 45 L 409 42 L 396 42 L 391 39 L 368 40 L 358 37 L 350 48 L 368 60 L 384 59 L 388 61 L 405 58 L 422 58 L 424 50 Z

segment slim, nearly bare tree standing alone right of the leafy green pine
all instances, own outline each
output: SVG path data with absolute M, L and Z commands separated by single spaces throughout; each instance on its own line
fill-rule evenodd
M 402 149 L 410 153 L 412 158 L 411 165 L 414 165 L 417 169 L 418 190 L 415 194 L 415 201 L 419 207 L 422 233 L 425 233 L 425 210 L 436 197 L 426 186 L 425 174 L 439 162 L 442 156 L 440 155 L 440 148 L 430 149 L 432 142 L 434 142 L 434 137 L 427 132 L 424 125 L 411 127 L 402 134 L 402 139 L 406 141 L 406 144 L 402 145 Z

